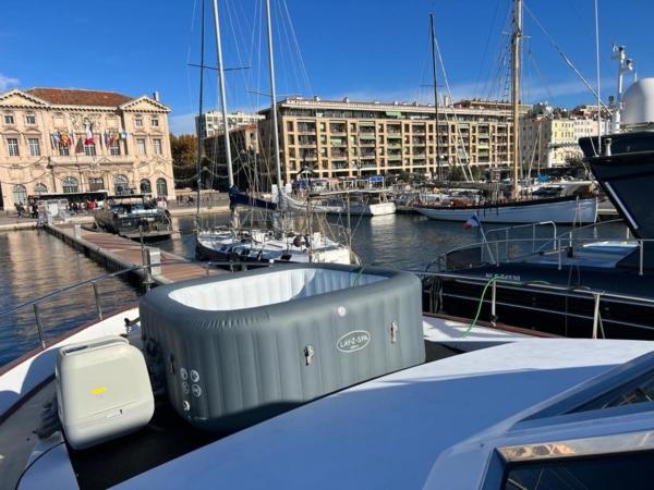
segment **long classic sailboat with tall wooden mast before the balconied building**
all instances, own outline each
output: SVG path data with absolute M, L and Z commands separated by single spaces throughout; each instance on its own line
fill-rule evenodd
M 511 198 L 497 203 L 471 203 L 465 205 L 445 206 L 417 205 L 414 209 L 421 215 L 443 221 L 467 221 L 471 216 L 486 223 L 536 223 L 554 221 L 557 224 L 594 223 L 597 220 L 597 198 L 562 196 L 553 198 L 521 199 L 519 182 L 519 142 L 520 142 L 520 48 L 522 42 L 522 0 L 513 0 L 513 32 L 511 38 L 511 102 L 513 119 L 512 140 L 512 192 Z M 432 58 L 434 68 L 434 86 L 436 87 L 436 50 L 434 26 L 432 23 Z M 438 107 L 438 95 L 435 88 L 434 105 Z M 438 112 L 436 112 L 437 114 Z M 438 123 L 436 123 L 438 126 Z M 438 145 L 436 145 L 438 148 Z M 436 158 L 438 159 L 438 152 Z M 439 163 L 439 162 L 438 162 Z

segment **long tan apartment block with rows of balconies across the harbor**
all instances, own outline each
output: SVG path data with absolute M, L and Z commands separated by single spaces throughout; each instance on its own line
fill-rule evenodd
M 502 167 L 512 158 L 513 124 L 506 102 L 465 100 L 439 107 L 438 142 L 431 105 L 293 97 L 277 108 L 286 182 L 306 166 L 320 177 L 434 175 L 439 164 L 447 172 L 460 163 Z M 266 117 L 259 123 L 262 151 L 271 160 L 270 109 L 261 114 Z

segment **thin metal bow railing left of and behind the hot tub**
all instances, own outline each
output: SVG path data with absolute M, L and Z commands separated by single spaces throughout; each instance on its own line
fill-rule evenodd
M 126 274 L 134 273 L 134 272 L 144 272 L 143 284 L 145 285 L 146 290 L 148 290 L 149 286 L 154 283 L 153 269 L 156 270 L 158 267 L 161 267 L 161 266 L 166 266 L 166 267 L 168 267 L 168 266 L 187 266 L 190 264 L 202 266 L 205 270 L 205 275 L 209 275 L 211 268 L 228 267 L 231 271 L 234 271 L 235 268 L 238 268 L 240 270 L 247 270 L 249 267 L 253 267 L 253 266 L 254 267 L 266 267 L 266 266 L 270 267 L 275 262 L 268 262 L 268 264 L 257 262 L 256 265 L 254 265 L 253 262 L 237 262 L 237 261 L 206 261 L 206 262 L 203 261 L 203 262 L 201 262 L 201 261 L 196 261 L 196 260 L 170 260 L 170 261 L 167 260 L 166 262 L 156 262 L 156 264 L 148 264 L 148 265 L 144 265 L 144 266 L 128 267 L 128 268 L 118 270 L 116 272 L 109 272 L 109 273 L 98 275 L 98 277 L 95 277 L 92 279 L 86 279 L 84 281 L 69 284 L 64 287 L 60 287 L 58 290 L 51 291 L 48 294 L 44 294 L 36 298 L 29 299 L 28 302 L 21 303 L 20 305 L 4 309 L 4 310 L 0 311 L 0 318 L 32 307 L 32 309 L 34 311 L 34 318 L 36 321 L 36 328 L 37 328 L 40 347 L 46 348 L 46 346 L 47 346 L 46 335 L 45 335 L 45 329 L 43 326 L 41 315 L 40 315 L 40 309 L 39 309 L 40 305 L 44 302 L 53 299 L 55 297 L 61 296 L 65 293 L 70 293 L 71 291 L 76 291 L 76 290 L 80 290 L 81 287 L 90 285 L 93 289 L 93 296 L 94 296 L 94 301 L 95 301 L 95 309 L 96 309 L 97 318 L 98 318 L 98 320 L 101 320 L 104 317 L 104 314 L 102 314 L 102 305 L 101 305 L 101 301 L 100 301 L 101 299 L 100 293 L 98 290 L 99 283 L 110 280 L 110 279 L 124 277 Z

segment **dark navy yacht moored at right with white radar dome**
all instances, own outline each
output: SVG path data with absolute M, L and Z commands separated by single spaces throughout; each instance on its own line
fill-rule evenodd
M 441 264 L 446 275 L 433 282 L 438 309 L 464 315 L 479 305 L 488 314 L 491 299 L 482 292 L 492 285 L 493 315 L 512 324 L 569 336 L 654 339 L 647 194 L 654 180 L 654 78 L 634 83 L 620 99 L 620 131 L 581 138 L 580 146 L 627 234 L 605 237 L 603 224 L 511 241 L 507 230 L 506 237 L 451 250 Z M 529 250 L 520 247 L 525 244 Z

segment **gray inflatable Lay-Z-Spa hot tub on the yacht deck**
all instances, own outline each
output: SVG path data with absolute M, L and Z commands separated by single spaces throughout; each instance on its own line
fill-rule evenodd
M 288 265 L 159 286 L 140 310 L 153 384 L 213 431 L 425 360 L 408 272 Z

